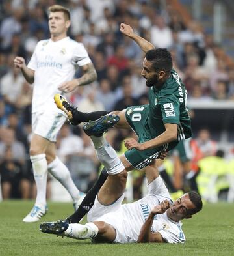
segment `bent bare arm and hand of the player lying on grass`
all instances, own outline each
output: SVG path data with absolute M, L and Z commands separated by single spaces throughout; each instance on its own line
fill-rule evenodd
M 170 203 L 167 200 L 164 200 L 161 202 L 160 205 L 157 205 L 151 210 L 149 213 L 148 218 L 142 225 L 142 228 L 140 229 L 140 235 L 138 237 L 137 242 L 138 243 L 144 243 L 144 242 L 157 242 L 157 243 L 162 243 L 165 242 L 164 239 L 162 238 L 161 233 L 151 232 L 151 227 L 153 225 L 153 218 L 156 214 L 163 214 L 166 212 L 166 210 L 170 207 Z

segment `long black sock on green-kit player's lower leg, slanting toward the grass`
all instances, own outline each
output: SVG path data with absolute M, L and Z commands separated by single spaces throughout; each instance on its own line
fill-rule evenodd
M 88 191 L 79 208 L 70 217 L 66 218 L 69 223 L 79 223 L 79 221 L 85 216 L 85 214 L 89 212 L 89 210 L 94 205 L 96 195 L 98 194 L 101 186 L 103 185 L 107 177 L 107 171 L 105 168 L 103 168 L 97 182 Z

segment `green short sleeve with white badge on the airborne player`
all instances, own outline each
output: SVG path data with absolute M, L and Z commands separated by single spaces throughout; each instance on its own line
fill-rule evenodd
M 159 104 L 164 124 L 179 124 L 179 98 L 174 95 L 160 97 Z

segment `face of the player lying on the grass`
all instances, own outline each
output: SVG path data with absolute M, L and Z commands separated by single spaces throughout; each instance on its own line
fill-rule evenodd
M 194 208 L 196 208 L 196 206 L 190 200 L 189 195 L 185 193 L 168 208 L 167 216 L 174 221 L 179 221 L 188 216 L 188 210 Z

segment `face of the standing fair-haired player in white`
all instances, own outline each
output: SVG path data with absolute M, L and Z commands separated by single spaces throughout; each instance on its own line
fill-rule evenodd
M 59 36 L 68 30 L 70 21 L 65 20 L 63 12 L 51 12 L 49 14 L 49 31 L 51 35 Z

